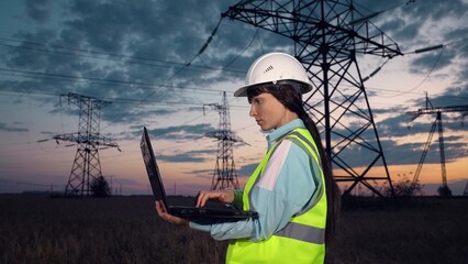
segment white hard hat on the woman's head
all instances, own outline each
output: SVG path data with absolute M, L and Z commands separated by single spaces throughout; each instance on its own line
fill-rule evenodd
M 286 53 L 267 53 L 257 58 L 247 72 L 245 86 L 234 92 L 234 97 L 247 96 L 249 87 L 279 80 L 293 80 L 301 85 L 300 92 L 305 94 L 312 90 L 312 84 L 308 74 L 293 56 Z

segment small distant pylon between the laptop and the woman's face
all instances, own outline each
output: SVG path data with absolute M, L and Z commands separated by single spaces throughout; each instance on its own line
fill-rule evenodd
M 215 132 L 207 133 L 209 138 L 218 139 L 216 165 L 213 173 L 211 189 L 237 189 L 238 179 L 234 166 L 233 144 L 242 140 L 231 131 L 230 107 L 227 105 L 226 92 L 223 92 L 223 102 L 210 103 L 220 113 L 220 125 Z

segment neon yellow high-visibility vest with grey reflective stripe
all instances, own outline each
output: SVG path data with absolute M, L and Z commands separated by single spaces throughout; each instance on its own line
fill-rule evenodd
M 303 148 L 311 161 L 321 164 L 316 145 L 307 129 L 298 128 L 282 140 L 289 140 Z M 249 210 L 249 191 L 259 180 L 264 169 L 279 145 L 277 142 L 265 155 L 246 183 L 243 195 L 244 210 Z M 325 180 L 320 167 L 317 201 L 292 217 L 288 224 L 271 238 L 252 242 L 232 240 L 227 248 L 226 263 L 323 263 L 325 257 L 326 195 Z

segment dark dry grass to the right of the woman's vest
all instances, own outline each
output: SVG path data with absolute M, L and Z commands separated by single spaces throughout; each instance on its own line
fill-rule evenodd
M 468 263 L 468 199 L 344 205 L 330 263 Z

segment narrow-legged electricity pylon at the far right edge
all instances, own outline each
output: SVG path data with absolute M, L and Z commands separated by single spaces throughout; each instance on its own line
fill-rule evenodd
M 442 113 L 444 112 L 468 112 L 468 106 L 450 106 L 450 107 L 433 107 L 430 99 L 426 95 L 426 107 L 421 108 L 417 111 L 410 111 L 406 112 L 406 114 L 411 116 L 411 121 L 415 120 L 422 114 L 436 114 L 435 121 L 432 124 L 430 135 L 427 138 L 427 141 L 425 143 L 423 154 L 421 155 L 420 163 L 417 164 L 416 172 L 414 174 L 413 182 L 411 184 L 411 190 L 414 189 L 415 185 L 417 184 L 419 176 L 421 173 L 421 168 L 424 164 L 425 156 L 427 154 L 427 151 L 431 146 L 431 140 L 434 134 L 435 129 L 438 130 L 438 152 L 441 154 L 441 169 L 442 169 L 442 186 L 438 189 L 438 193 L 441 196 L 452 196 L 452 190 L 448 188 L 447 185 L 447 173 L 446 173 L 446 166 L 445 166 L 445 147 L 444 147 L 444 129 L 442 127 Z M 465 117 L 465 114 L 463 116 Z M 467 185 L 468 186 L 468 185 Z

